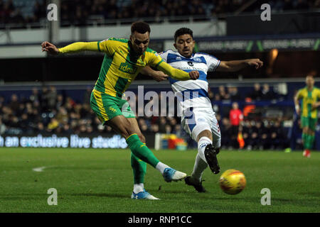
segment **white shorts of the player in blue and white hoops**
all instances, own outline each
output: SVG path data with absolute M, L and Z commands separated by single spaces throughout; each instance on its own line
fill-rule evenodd
M 191 107 L 186 109 L 181 116 L 181 126 L 195 141 L 202 131 L 211 131 L 213 135 L 213 146 L 220 148 L 220 127 L 212 108 Z

